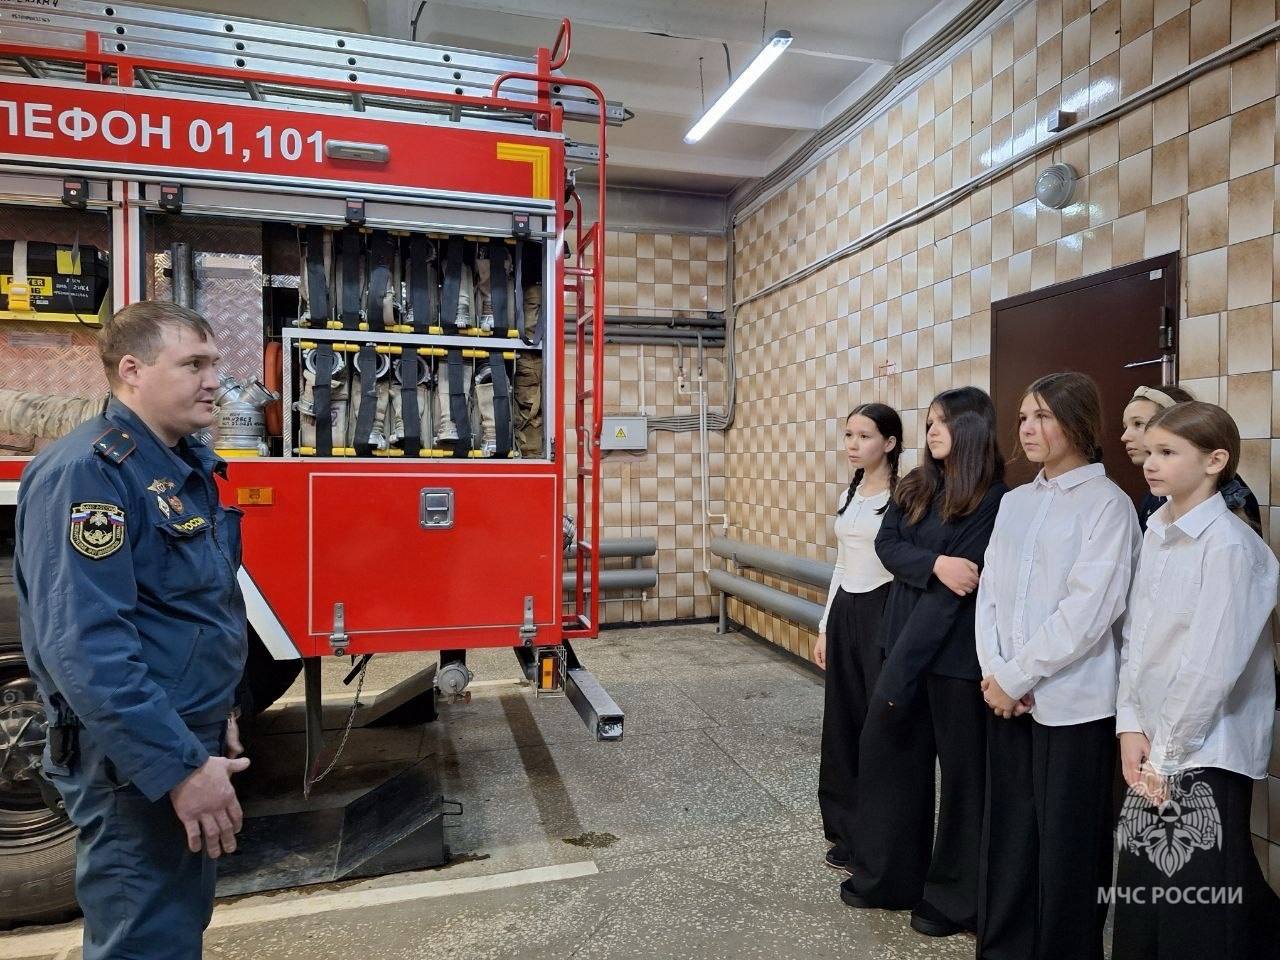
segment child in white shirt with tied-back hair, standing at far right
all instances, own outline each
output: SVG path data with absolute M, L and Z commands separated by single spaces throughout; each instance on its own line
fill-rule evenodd
M 1116 831 L 1114 952 L 1274 957 L 1280 900 L 1253 854 L 1249 805 L 1271 754 L 1280 564 L 1220 493 L 1240 457 L 1225 410 L 1178 403 L 1143 439 L 1147 483 L 1169 500 L 1147 521 L 1120 652 L 1130 794 Z

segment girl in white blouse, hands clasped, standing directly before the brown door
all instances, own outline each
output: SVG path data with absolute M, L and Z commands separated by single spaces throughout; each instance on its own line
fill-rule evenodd
M 1042 468 L 1001 503 L 978 585 L 978 660 L 995 714 L 979 879 L 983 960 L 1102 960 L 1112 626 L 1139 536 L 1133 503 L 1103 471 L 1101 436 L 1102 401 L 1084 374 L 1051 374 L 1027 388 L 1018 439 Z

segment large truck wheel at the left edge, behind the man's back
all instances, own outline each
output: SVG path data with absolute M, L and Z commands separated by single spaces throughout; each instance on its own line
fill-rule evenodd
M 78 910 L 76 828 L 46 803 L 56 804 L 58 794 L 40 772 L 44 740 L 45 714 L 22 650 L 0 648 L 0 929 Z

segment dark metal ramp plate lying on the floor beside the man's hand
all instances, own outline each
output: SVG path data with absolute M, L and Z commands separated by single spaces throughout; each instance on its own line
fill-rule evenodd
M 244 820 L 218 867 L 218 896 L 439 867 L 448 860 L 434 756 L 344 806 Z

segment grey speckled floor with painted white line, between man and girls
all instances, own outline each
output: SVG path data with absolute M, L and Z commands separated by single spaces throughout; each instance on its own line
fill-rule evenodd
M 445 867 L 219 902 L 211 957 L 970 957 L 908 914 L 858 911 L 822 865 L 817 805 L 822 681 L 712 626 L 611 631 L 579 653 L 626 710 L 594 742 L 564 700 L 535 700 L 509 650 L 472 654 L 477 685 L 436 723 L 356 730 L 316 800 L 339 803 L 435 755 L 449 818 Z M 366 692 L 412 672 L 375 658 Z M 328 663 L 340 685 L 347 662 Z M 300 690 L 291 691 L 300 694 Z M 326 714 L 337 740 L 346 712 Z M 251 746 L 250 812 L 289 809 L 300 707 Z M 266 796 L 268 799 L 261 799 Z M 287 799 L 280 799 L 282 796 Z M 0 936 L 0 957 L 76 957 L 74 924 Z

